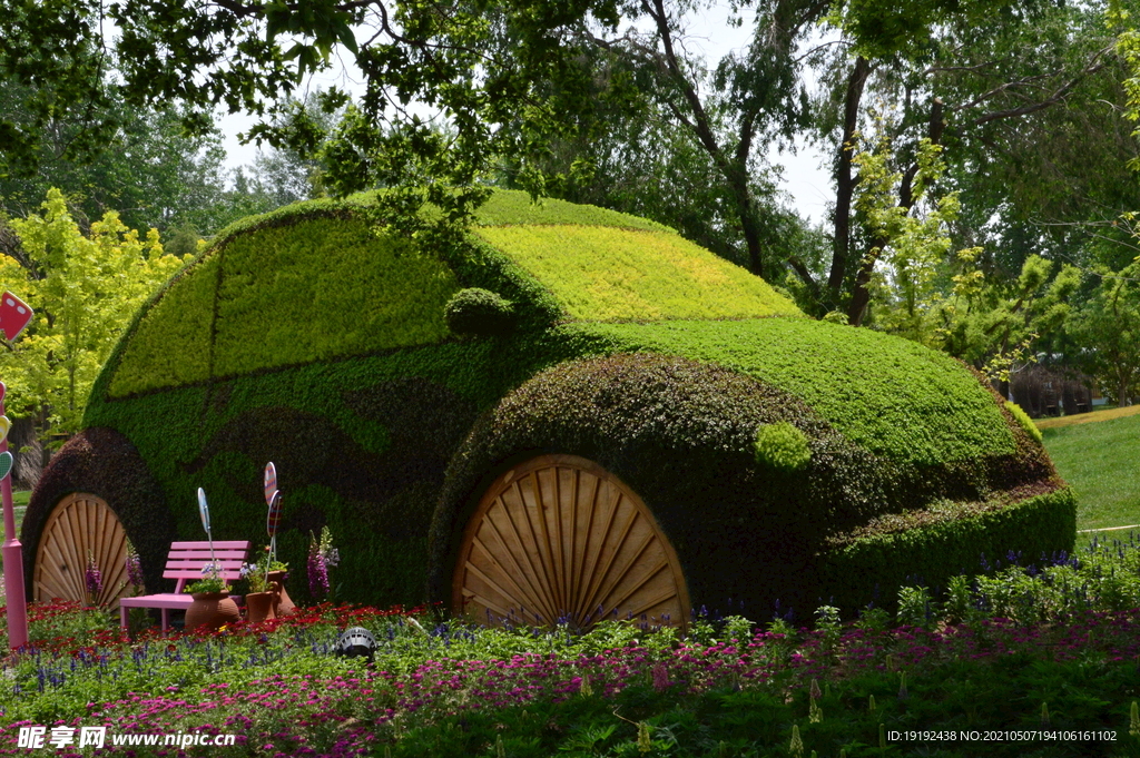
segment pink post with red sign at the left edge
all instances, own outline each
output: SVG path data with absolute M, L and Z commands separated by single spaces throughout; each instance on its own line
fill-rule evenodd
M 0 299 L 0 332 L 14 342 L 32 320 L 32 309 L 10 292 Z M 8 451 L 8 429 L 11 423 L 3 415 L 3 396 L 7 388 L 0 382 L 0 499 L 3 500 L 3 585 L 8 604 L 8 644 L 15 650 L 27 644 L 27 598 L 24 595 L 24 546 L 16 538 L 16 510 L 11 504 L 11 467 L 14 459 Z

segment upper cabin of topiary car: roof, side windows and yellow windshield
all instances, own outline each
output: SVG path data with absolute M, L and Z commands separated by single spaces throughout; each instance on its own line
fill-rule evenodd
M 497 191 L 473 244 L 439 254 L 378 233 L 370 197 L 299 203 L 223 230 L 144 309 L 111 397 L 439 343 L 453 336 L 447 301 L 472 284 L 544 301 L 548 321 L 801 316 L 763 279 L 622 213 Z M 464 282 L 486 278 L 464 276 L 472 269 L 490 282 Z

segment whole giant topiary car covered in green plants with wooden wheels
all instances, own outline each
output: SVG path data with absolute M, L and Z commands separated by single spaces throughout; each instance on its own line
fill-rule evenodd
M 32 496 L 32 594 L 88 551 L 115 585 L 127 538 L 158 592 L 198 487 L 255 538 L 269 460 L 295 574 L 328 525 L 339 600 L 479 620 L 849 610 L 1072 548 L 1032 423 L 956 360 L 642 219 L 497 191 L 433 247 L 377 207 L 247 219 L 141 310 Z

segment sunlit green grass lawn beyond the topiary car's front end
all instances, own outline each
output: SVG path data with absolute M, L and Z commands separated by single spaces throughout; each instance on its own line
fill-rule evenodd
M 1140 524 L 1140 416 L 1042 429 L 1057 471 L 1077 494 L 1077 529 Z

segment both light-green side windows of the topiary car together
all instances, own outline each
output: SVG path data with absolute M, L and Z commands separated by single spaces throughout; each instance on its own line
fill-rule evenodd
M 363 220 L 254 228 L 210 251 L 145 313 L 111 396 L 206 378 L 211 331 L 213 376 L 439 342 L 458 288 L 440 260 Z

